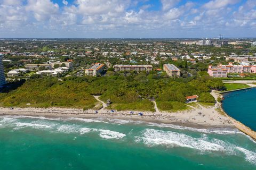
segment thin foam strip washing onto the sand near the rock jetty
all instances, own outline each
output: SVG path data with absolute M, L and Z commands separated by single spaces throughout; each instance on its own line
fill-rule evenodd
M 158 124 L 158 123 L 148 123 L 148 126 L 157 126 L 159 128 L 172 128 L 172 129 L 178 129 L 178 130 L 189 130 L 189 131 L 195 131 L 195 132 L 202 132 L 202 133 L 217 133 L 217 134 L 244 134 L 241 131 L 237 129 L 227 129 L 227 128 L 213 128 L 213 129 L 197 129 L 197 128 L 191 128 L 187 126 L 179 126 L 179 125 L 173 125 L 173 124 Z

